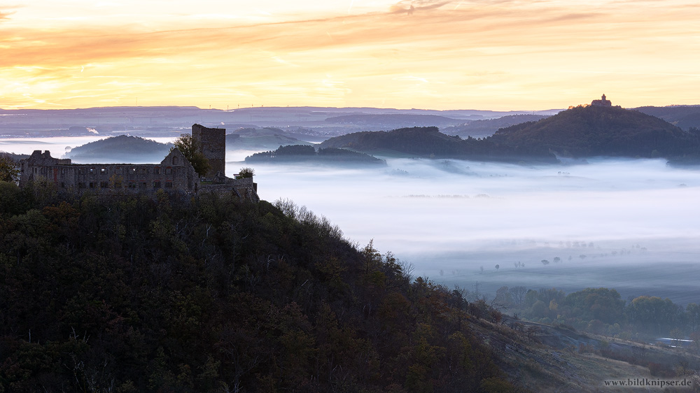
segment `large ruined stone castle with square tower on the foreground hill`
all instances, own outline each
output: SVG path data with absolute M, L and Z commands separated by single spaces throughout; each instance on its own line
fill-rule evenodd
M 71 159 L 51 157 L 48 150 L 34 150 L 20 161 L 20 186 L 47 180 L 62 190 L 120 195 L 165 191 L 197 194 L 208 190 L 233 192 L 241 199 L 259 201 L 253 178 L 225 176 L 226 129 L 193 124 L 192 136 L 209 159 L 211 169 L 203 178 L 177 148 L 160 164 L 72 164 Z

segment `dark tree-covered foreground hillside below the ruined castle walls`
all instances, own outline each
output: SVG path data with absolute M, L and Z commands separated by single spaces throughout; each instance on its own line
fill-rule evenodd
M 0 392 L 516 391 L 499 313 L 276 205 L 0 182 Z

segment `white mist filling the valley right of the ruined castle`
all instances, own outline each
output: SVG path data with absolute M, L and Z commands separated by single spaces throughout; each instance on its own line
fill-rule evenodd
M 255 181 L 262 199 L 307 206 L 351 241 L 374 239 L 381 252 L 412 263 L 414 276 L 450 287 L 482 294 L 502 285 L 611 287 L 624 298 L 678 303 L 700 296 L 699 170 L 674 169 L 664 159 L 387 164 L 256 165 Z M 241 166 L 248 165 L 230 162 L 227 171 Z

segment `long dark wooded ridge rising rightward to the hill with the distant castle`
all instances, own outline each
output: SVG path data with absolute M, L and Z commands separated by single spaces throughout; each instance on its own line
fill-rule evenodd
M 321 146 L 510 162 L 556 162 L 555 155 L 666 157 L 692 161 L 700 159 L 700 132 L 683 131 L 635 110 L 579 106 L 538 122 L 499 129 L 487 138 L 462 139 L 442 134 L 437 127 L 414 127 L 337 136 Z

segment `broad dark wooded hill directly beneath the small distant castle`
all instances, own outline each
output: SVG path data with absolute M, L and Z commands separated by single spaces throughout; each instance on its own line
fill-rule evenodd
M 678 157 L 696 155 L 698 139 L 657 117 L 619 107 L 565 110 L 533 123 L 500 129 L 494 141 L 540 147 L 573 157 Z

